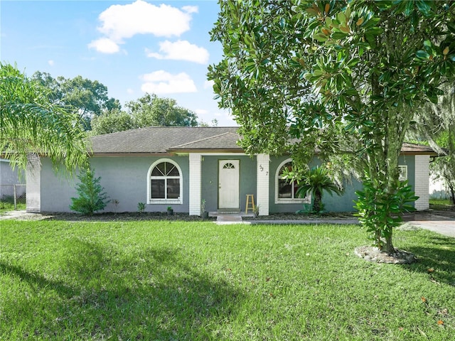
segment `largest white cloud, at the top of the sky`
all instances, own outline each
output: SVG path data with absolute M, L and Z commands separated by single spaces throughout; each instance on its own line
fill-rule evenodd
M 103 11 L 99 19 L 102 25 L 98 30 L 117 43 L 137 34 L 154 36 L 181 36 L 190 29 L 193 6 L 185 6 L 183 11 L 173 6 L 155 6 L 137 0 L 132 4 L 112 5 Z

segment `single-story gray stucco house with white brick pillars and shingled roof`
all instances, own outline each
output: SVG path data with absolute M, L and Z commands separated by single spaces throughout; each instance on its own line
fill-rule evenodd
M 247 156 L 237 146 L 237 127 L 149 127 L 93 136 L 92 168 L 111 200 L 105 212 L 135 212 L 139 202 L 146 212 L 200 215 L 205 200 L 208 211 L 244 211 L 246 195 L 254 195 L 261 215 L 295 212 L 311 198 L 294 197 L 296 186 L 280 177 L 291 164 L 289 156 Z M 429 156 L 431 148 L 406 144 L 400 157 L 400 173 L 414 186 L 418 210 L 429 207 Z M 27 173 L 29 212 L 68 212 L 77 197 L 77 179 L 55 174 L 48 158 L 36 160 Z M 318 163 L 317 158 L 312 164 Z M 353 210 L 355 190 L 361 184 L 345 184 L 343 196 L 325 195 L 325 209 Z

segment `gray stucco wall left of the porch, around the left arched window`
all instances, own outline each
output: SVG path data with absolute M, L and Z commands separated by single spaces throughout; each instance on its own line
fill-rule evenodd
M 172 156 L 183 173 L 183 203 L 174 205 L 174 212 L 188 212 L 188 157 Z M 117 209 L 109 202 L 103 212 L 137 212 L 139 202 L 147 202 L 147 173 L 152 163 L 160 157 L 95 157 L 90 160 L 95 176 L 101 177 L 109 199 L 117 199 Z M 71 197 L 77 197 L 76 178 L 66 178 L 63 173 L 55 174 L 47 158 L 41 160 L 41 211 L 70 212 Z M 164 212 L 168 204 L 146 205 L 146 212 Z

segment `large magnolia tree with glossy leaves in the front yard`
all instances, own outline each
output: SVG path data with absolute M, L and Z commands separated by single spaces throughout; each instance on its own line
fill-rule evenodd
M 382 204 L 362 205 L 362 222 L 393 253 L 402 212 L 389 204 L 415 200 L 400 149 L 417 109 L 454 79 L 454 19 L 447 1 L 222 1 L 211 37 L 224 59 L 208 77 L 248 153 L 304 162 L 319 148 L 372 179 L 369 203 Z

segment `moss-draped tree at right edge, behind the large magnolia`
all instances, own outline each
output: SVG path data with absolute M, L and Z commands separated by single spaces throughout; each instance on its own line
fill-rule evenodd
M 430 169 L 447 184 L 455 205 L 455 84 L 444 87 L 437 103 L 424 106 L 412 128 L 410 136 L 429 141 L 439 152 L 441 157 L 430 164 Z

